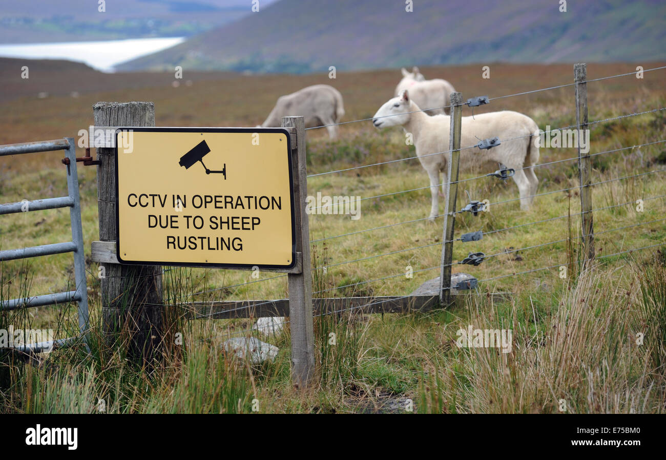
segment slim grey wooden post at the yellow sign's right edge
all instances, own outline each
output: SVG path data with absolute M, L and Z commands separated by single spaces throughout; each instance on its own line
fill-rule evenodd
M 305 154 L 305 122 L 302 116 L 285 116 L 282 127 L 295 128 L 296 148 L 292 148 L 294 170 L 294 212 L 296 214 L 296 252 L 301 253 L 302 273 L 289 277 L 289 326 L 292 341 L 292 383 L 305 389 L 314 377 L 314 327 L 312 324 L 312 262 L 310 225 L 306 213 L 308 176 Z M 293 144 L 292 144 L 293 145 Z

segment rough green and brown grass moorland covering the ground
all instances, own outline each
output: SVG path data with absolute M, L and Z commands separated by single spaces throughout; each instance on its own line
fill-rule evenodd
M 470 77 L 471 89 L 465 89 L 465 95 L 509 94 L 571 79 L 568 66 L 548 66 L 545 70 L 538 66 L 497 67 L 491 82 Z M 472 75 L 475 69 L 460 67 L 447 72 Z M 430 75 L 438 71 L 442 69 L 430 69 Z M 541 71 L 543 81 L 529 78 L 535 73 L 542 75 Z M 619 65 L 596 70 L 598 75 L 590 69 L 590 77 L 622 71 L 627 70 Z M 608 85 L 590 83 L 589 118 L 663 107 L 663 89 L 649 75 L 639 89 L 627 79 L 613 80 Z M 268 111 L 283 87 L 316 83 L 316 77 L 310 75 L 288 79 L 225 76 L 224 81 L 208 78 L 200 82 L 203 88 L 192 87 L 194 97 L 190 102 L 184 94 L 174 93 L 172 87 L 91 93 L 81 97 L 85 101 L 64 97 L 16 99 L 0 114 L 0 124 L 7 128 L 1 136 L 3 142 L 21 142 L 56 138 L 63 135 L 63 130 L 72 135 L 77 126 L 89 124 L 88 103 L 103 99 L 153 100 L 161 125 L 210 125 L 217 109 L 206 95 L 220 95 L 221 103 L 236 101 L 234 98 L 240 101 L 256 95 L 256 85 L 261 84 L 266 89 L 256 96 L 261 101 L 257 100 L 256 105 L 231 104 L 232 109 L 223 115 L 223 124 L 252 125 L 260 118 L 254 113 Z M 339 74 L 338 79 L 335 85 L 348 101 L 346 119 L 372 116 L 396 83 L 395 71 Z M 489 83 L 494 85 L 492 92 L 482 87 Z M 542 129 L 547 124 L 558 127 L 575 122 L 573 95 L 566 89 L 493 101 L 492 105 L 494 110 L 527 113 Z M 36 115 L 30 118 L 19 112 L 21 106 Z M 59 110 L 69 116 L 52 119 Z M 465 115 L 471 115 L 471 110 Z M 591 153 L 664 139 L 665 120 L 663 113 L 657 112 L 594 124 Z M 35 126 L 37 131 L 33 132 Z M 364 123 L 341 128 L 341 138 L 336 141 L 328 140 L 318 130 L 308 130 L 309 174 L 414 156 L 414 148 L 404 144 L 400 130 L 378 131 Z M 65 194 L 59 157 L 49 155 L 1 158 L 0 201 Z M 541 162 L 575 155 L 575 150 L 569 148 L 543 148 Z M 100 336 L 97 266 L 88 260 L 91 324 L 95 325 L 91 355 L 78 346 L 53 351 L 37 364 L 24 363 L 0 351 L 0 412 L 94 413 L 103 409 L 117 413 L 236 413 L 257 408 L 260 412 L 373 412 L 404 411 L 408 399 L 415 411 L 437 413 L 551 413 L 559 411 L 561 400 L 567 412 L 663 412 L 663 249 L 661 253 L 653 248 L 604 257 L 666 241 L 665 221 L 660 220 L 666 214 L 665 201 L 649 199 L 666 194 L 664 173 L 615 180 L 663 169 L 663 156 L 663 144 L 653 144 L 593 157 L 593 182 L 610 180 L 594 186 L 593 206 L 614 207 L 594 213 L 598 263 L 593 270 L 581 272 L 577 265 L 580 222 L 575 160 L 537 168 L 539 192 L 552 193 L 535 198 L 529 212 L 519 210 L 517 188 L 510 180 L 463 182 L 463 202 L 468 192 L 473 199 L 488 198 L 491 206 L 489 212 L 476 217 L 461 215 L 456 220 L 456 236 L 475 230 L 501 231 L 486 234 L 474 243 L 456 242 L 454 260 L 478 251 L 492 257 L 478 267 L 454 266 L 454 272 L 468 272 L 479 280 L 497 278 L 481 281 L 479 292 L 509 291 L 513 292 L 512 299 L 493 303 L 491 297 L 472 296 L 463 305 L 426 314 L 364 316 L 348 312 L 315 318 L 319 383 L 305 393 L 296 393 L 291 387 L 288 327 L 284 334 L 265 338 L 250 332 L 252 318 L 184 320 L 183 309 L 178 307 L 189 300 L 286 298 L 286 276 L 262 273 L 262 281 L 254 282 L 251 272 L 196 268 L 166 272 L 169 357 L 157 368 L 142 369 L 127 362 L 123 347 L 117 346 L 122 343 L 112 346 Z M 462 172 L 462 178 L 495 169 L 496 165 L 478 165 Z M 83 232 L 89 250 L 88 242 L 98 238 L 95 170 L 80 167 L 79 179 Z M 442 219 L 435 224 L 423 220 L 430 207 L 430 192 L 424 188 L 427 184 L 426 174 L 416 160 L 309 178 L 309 194 L 364 198 L 359 220 L 338 215 L 310 216 L 311 240 L 349 234 L 312 244 L 314 296 L 406 295 L 438 276 Z M 402 192 L 412 189 L 419 190 Z M 644 200 L 641 212 L 637 211 L 639 199 Z M 500 203 L 503 200 L 513 201 Z M 628 204 L 615 206 L 620 203 Z M 462 207 L 464 203 L 459 204 Z M 442 209 L 443 204 L 440 212 Z M 557 219 L 521 226 L 550 218 Z M 71 238 L 67 210 L 13 214 L 2 219 L 2 249 Z M 412 220 L 416 222 L 361 231 Z M 518 227 L 503 230 L 514 226 Z M 614 230 L 625 226 L 633 227 Z M 538 247 L 521 249 L 530 246 Z M 382 256 L 387 253 L 394 254 Z M 360 258 L 364 260 L 350 262 Z M 569 272 L 564 279 L 559 276 L 562 265 Z M 414 270 L 413 278 L 404 276 L 408 266 Z M 539 270 L 549 266 L 556 267 Z M 530 270 L 534 271 L 512 276 Z M 0 264 L 0 299 L 67 290 L 72 284 L 69 254 Z M 481 329 L 511 329 L 511 353 L 456 346 L 456 332 L 470 324 Z M 3 312 L 0 329 L 9 325 L 53 328 L 57 337 L 69 336 L 77 330 L 76 308 L 71 305 Z M 223 353 L 220 347 L 224 340 L 240 334 L 255 335 L 278 346 L 278 357 L 272 363 L 252 366 Z M 639 337 L 641 345 L 637 344 Z

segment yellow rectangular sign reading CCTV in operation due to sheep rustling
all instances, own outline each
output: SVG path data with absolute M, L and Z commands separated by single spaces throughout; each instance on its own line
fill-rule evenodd
M 286 130 L 118 128 L 115 140 L 121 263 L 294 266 Z

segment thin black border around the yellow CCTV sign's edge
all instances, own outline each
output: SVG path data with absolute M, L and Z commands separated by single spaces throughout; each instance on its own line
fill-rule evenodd
M 291 236 L 292 250 L 291 263 L 287 265 L 266 265 L 266 264 L 214 264 L 214 263 L 189 263 L 189 262 L 155 262 L 151 260 L 123 260 L 121 258 L 120 245 L 120 201 L 119 201 L 119 183 L 118 183 L 118 134 L 122 131 L 132 130 L 134 132 L 277 132 L 284 134 L 287 138 L 287 157 L 289 163 L 289 200 L 291 204 Z M 114 156 L 115 156 L 115 186 L 116 186 L 116 258 L 123 265 L 158 265 L 170 267 L 203 267 L 203 268 L 228 268 L 251 270 L 254 267 L 259 269 L 270 269 L 274 271 L 292 270 L 296 266 L 296 208 L 294 208 L 294 165 L 292 164 L 291 134 L 284 128 L 196 128 L 196 127 L 168 127 L 168 126 L 123 126 L 118 127 L 114 133 Z

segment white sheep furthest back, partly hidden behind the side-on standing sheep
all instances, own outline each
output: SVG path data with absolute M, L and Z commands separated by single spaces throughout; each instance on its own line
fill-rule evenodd
M 402 68 L 402 80 L 396 87 L 395 95 L 401 95 L 406 89 L 410 91 L 412 101 L 422 109 L 448 106 L 451 93 L 456 91 L 453 85 L 446 80 L 426 80 L 419 72 L 418 67 L 412 68 L 411 72 L 408 72 L 404 67 Z M 426 111 L 426 113 L 428 115 L 439 115 L 440 113 L 450 113 L 450 110 L 433 109 Z

